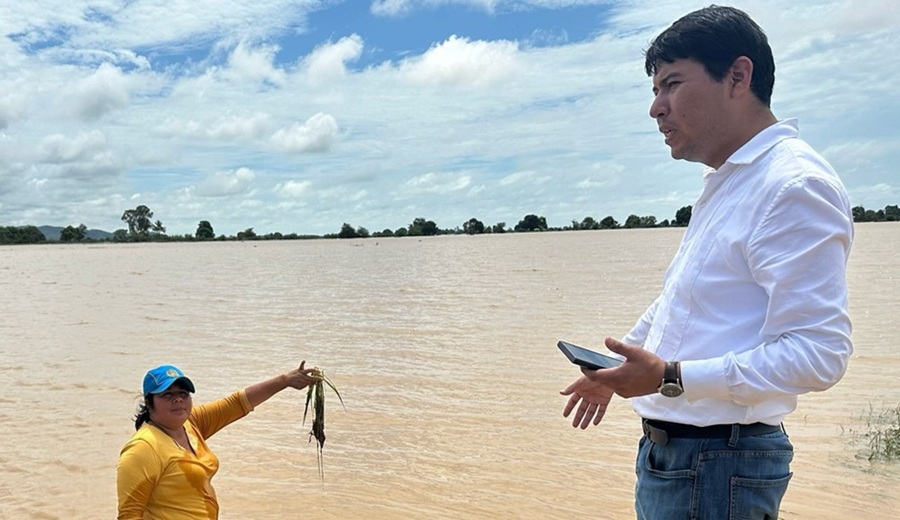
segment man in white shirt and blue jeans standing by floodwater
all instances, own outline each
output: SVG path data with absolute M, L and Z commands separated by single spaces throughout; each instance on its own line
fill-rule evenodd
M 613 393 L 631 398 L 639 520 L 774 520 L 792 475 L 782 420 L 852 352 L 850 203 L 796 121 L 772 113 L 772 51 L 745 13 L 690 13 L 645 58 L 672 157 L 709 168 L 662 293 L 606 338 L 624 363 L 584 369 L 563 413 L 587 428 Z

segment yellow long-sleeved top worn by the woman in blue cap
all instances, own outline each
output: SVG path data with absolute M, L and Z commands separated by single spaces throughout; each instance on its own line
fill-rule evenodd
M 118 519 L 218 518 L 219 503 L 211 480 L 219 470 L 219 459 L 206 445 L 206 439 L 251 410 L 243 390 L 195 406 L 184 425 L 195 453 L 179 446 L 156 426 L 141 425 L 119 454 Z

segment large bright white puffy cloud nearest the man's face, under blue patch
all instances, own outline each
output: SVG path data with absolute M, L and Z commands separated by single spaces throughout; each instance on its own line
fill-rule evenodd
M 473 42 L 454 35 L 428 49 L 421 57 L 404 60 L 400 71 L 414 83 L 491 85 L 516 71 L 517 51 L 515 42 Z

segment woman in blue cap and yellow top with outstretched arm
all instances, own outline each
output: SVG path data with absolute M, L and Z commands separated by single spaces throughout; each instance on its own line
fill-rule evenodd
M 144 376 L 144 404 L 135 434 L 119 454 L 119 520 L 215 520 L 219 504 L 211 480 L 219 459 L 206 439 L 268 398 L 319 380 L 300 367 L 209 404 L 193 406 L 194 383 L 172 365 Z

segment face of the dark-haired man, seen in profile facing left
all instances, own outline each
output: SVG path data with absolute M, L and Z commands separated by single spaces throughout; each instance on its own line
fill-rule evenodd
M 653 76 L 650 117 L 656 119 L 673 158 L 718 168 L 733 152 L 725 132 L 726 83 L 713 80 L 694 60 L 660 64 Z

